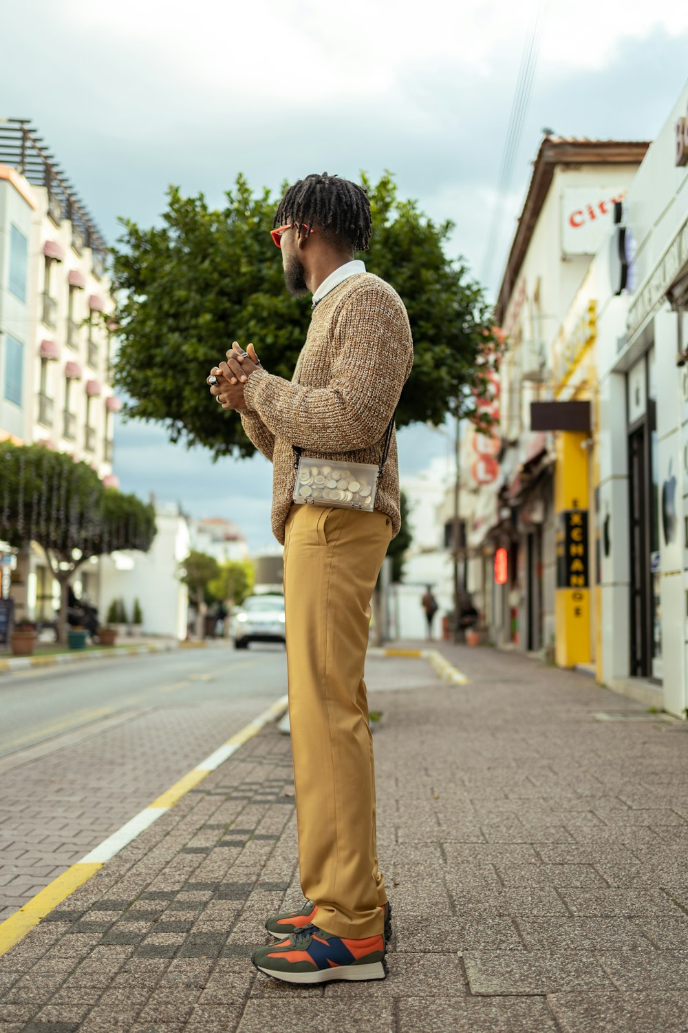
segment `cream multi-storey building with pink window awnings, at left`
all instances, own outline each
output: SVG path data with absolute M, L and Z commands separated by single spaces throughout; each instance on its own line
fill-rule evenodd
M 113 310 L 106 246 L 27 122 L 0 122 L 0 439 L 42 443 L 112 476 Z M 57 585 L 38 550 L 17 557 L 17 614 L 52 618 Z M 98 563 L 76 578 L 96 598 Z

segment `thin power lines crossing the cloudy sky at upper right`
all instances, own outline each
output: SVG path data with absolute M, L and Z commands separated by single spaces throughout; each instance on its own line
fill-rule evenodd
M 496 198 L 492 210 L 492 219 L 490 221 L 490 229 L 485 249 L 482 277 L 484 284 L 488 283 L 492 267 L 494 264 L 495 250 L 498 243 L 499 230 L 501 228 L 504 212 L 504 202 L 512 185 L 514 164 L 516 162 L 521 144 L 523 123 L 528 109 L 530 91 L 532 89 L 535 68 L 537 66 L 537 56 L 543 36 L 546 6 L 547 0 L 543 0 L 535 11 L 532 29 L 523 42 L 521 64 L 519 66 L 519 74 L 516 82 L 512 109 L 509 117 L 506 137 L 504 139 L 504 149 L 501 156 L 501 163 L 499 165 Z

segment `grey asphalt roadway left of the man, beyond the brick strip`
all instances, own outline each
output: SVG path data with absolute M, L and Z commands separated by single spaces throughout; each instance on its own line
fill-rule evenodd
M 27 670 L 0 679 L 0 757 L 124 712 L 248 696 L 258 713 L 286 691 L 279 646 L 210 646 Z

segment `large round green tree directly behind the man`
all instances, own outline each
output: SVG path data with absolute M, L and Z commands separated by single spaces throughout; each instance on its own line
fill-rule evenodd
M 401 294 L 414 332 L 416 362 L 397 425 L 443 422 L 476 412 L 499 344 L 481 287 L 465 263 L 446 254 L 450 221 L 433 222 L 398 196 L 391 175 L 364 177 L 373 220 L 368 270 Z M 162 225 L 122 220 L 113 251 L 120 299 L 114 379 L 125 414 L 162 424 L 172 441 L 209 448 L 217 458 L 254 446 L 235 412 L 207 394 L 205 377 L 234 339 L 253 341 L 266 369 L 291 379 L 309 318 L 307 299 L 285 289 L 268 230 L 276 199 L 254 194 L 238 177 L 222 209 L 170 187 Z

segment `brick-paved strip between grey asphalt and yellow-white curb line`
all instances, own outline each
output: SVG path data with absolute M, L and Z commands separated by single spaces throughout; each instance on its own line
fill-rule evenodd
M 80 729 L 88 738 L 67 750 L 0 771 L 0 921 L 259 709 L 260 702 L 247 698 L 116 715 L 117 724 L 102 731 Z

